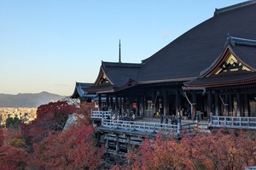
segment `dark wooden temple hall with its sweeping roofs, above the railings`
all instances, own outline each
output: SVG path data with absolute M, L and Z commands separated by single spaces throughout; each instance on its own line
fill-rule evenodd
M 71 97 L 136 116 L 256 116 L 255 26 L 252 0 L 216 8 L 141 63 L 123 63 L 119 42 L 118 61 L 102 61 L 96 81 L 77 82 Z

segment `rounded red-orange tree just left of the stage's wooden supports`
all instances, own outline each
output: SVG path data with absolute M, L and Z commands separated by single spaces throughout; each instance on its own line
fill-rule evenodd
M 28 167 L 36 169 L 95 169 L 101 163 L 104 148 L 96 148 L 92 126 L 71 126 L 61 133 L 50 133 L 35 144 L 35 156 Z

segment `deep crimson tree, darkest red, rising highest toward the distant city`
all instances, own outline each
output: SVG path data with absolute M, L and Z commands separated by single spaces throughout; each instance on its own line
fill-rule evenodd
M 61 131 L 67 122 L 68 115 L 74 111 L 73 105 L 66 101 L 50 102 L 40 105 L 37 110 L 37 119 L 30 124 L 20 124 L 21 133 L 32 150 L 32 144 L 45 139 L 51 131 Z

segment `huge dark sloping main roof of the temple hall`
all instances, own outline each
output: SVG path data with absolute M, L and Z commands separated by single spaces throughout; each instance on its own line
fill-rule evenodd
M 139 72 L 139 83 L 180 78 L 187 78 L 189 81 L 191 77 L 198 77 L 201 71 L 218 58 L 224 50 L 228 33 L 236 37 L 256 39 L 256 3 L 242 3 L 236 5 L 236 8 L 227 9 L 177 37 L 148 59 L 144 59 L 145 65 Z M 241 47 L 234 48 L 237 53 L 240 53 L 239 48 Z M 245 62 L 247 61 L 245 59 Z

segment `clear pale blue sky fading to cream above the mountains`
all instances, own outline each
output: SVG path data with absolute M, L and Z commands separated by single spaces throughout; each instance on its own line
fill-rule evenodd
M 0 0 L 0 94 L 73 94 L 103 61 L 141 60 L 242 0 Z

